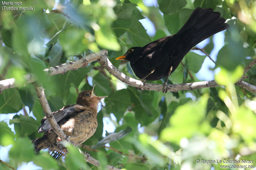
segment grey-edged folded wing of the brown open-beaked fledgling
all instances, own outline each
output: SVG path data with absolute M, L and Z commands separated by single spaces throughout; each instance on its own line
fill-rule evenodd
M 68 116 L 81 113 L 85 109 L 86 109 L 86 107 L 83 105 L 68 105 L 68 106 L 62 107 L 60 110 L 52 112 L 52 114 L 53 114 L 53 117 L 55 118 L 56 122 L 59 122 L 60 120 L 66 118 Z M 39 126 L 39 128 L 38 128 L 38 133 L 46 132 L 50 128 L 51 128 L 51 125 L 50 125 L 49 121 L 47 120 L 46 116 L 44 116 L 44 118 L 41 120 L 41 126 Z

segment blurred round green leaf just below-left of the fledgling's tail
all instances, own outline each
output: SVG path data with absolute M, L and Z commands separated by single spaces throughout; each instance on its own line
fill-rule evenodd
M 15 160 L 17 163 L 30 162 L 35 157 L 34 146 L 27 137 L 16 138 L 9 155 L 10 159 Z

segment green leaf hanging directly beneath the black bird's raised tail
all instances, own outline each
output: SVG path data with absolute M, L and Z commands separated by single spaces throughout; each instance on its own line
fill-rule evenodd
M 201 69 L 205 57 L 206 55 L 199 55 L 194 52 L 188 52 L 188 54 L 186 54 L 184 57 L 188 60 L 188 70 L 197 73 Z

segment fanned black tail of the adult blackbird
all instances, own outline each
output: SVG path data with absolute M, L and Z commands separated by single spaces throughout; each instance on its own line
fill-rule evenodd
M 196 8 L 185 25 L 176 34 L 190 41 L 191 48 L 215 33 L 228 29 L 229 25 L 220 17 L 220 12 L 211 8 Z

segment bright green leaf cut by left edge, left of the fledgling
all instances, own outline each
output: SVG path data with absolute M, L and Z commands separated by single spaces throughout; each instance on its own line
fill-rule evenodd
M 9 144 L 13 144 L 15 135 L 11 128 L 8 127 L 8 124 L 4 121 L 0 122 L 0 134 L 1 146 L 8 146 Z

